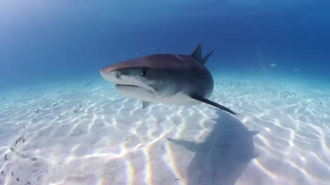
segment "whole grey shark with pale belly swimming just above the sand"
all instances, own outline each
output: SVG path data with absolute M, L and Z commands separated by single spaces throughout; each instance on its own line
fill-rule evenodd
M 123 95 L 142 100 L 142 108 L 151 102 L 177 106 L 208 103 L 236 114 L 208 99 L 212 95 L 214 82 L 204 64 L 212 53 L 202 58 L 199 44 L 191 55 L 142 56 L 104 67 L 100 74 L 115 84 L 115 88 Z

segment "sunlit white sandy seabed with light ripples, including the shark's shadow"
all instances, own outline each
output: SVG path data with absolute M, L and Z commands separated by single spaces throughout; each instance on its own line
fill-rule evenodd
M 329 88 L 217 77 L 231 116 L 88 82 L 1 92 L 0 184 L 330 184 Z

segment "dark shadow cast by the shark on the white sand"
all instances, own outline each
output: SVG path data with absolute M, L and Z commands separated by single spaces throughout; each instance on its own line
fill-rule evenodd
M 188 185 L 234 185 L 249 162 L 258 155 L 254 153 L 253 136 L 240 121 L 219 111 L 210 134 L 204 143 L 186 140 L 168 140 L 195 152 L 188 166 Z

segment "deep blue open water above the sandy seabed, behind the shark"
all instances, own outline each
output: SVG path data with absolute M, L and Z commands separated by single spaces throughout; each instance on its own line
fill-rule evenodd
M 211 71 L 329 82 L 329 6 L 322 0 L 2 0 L 0 86 L 96 77 L 114 62 L 190 54 L 198 43 L 204 54 L 215 50 Z

